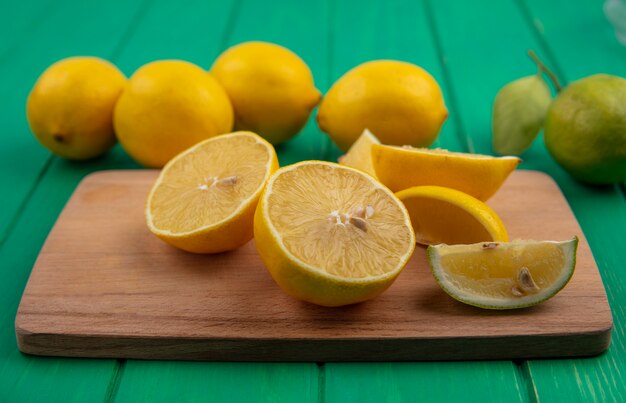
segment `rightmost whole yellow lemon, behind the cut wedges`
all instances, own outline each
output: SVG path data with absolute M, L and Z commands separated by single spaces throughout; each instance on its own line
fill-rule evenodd
M 427 147 L 447 116 L 441 89 L 427 71 L 411 63 L 376 60 L 333 84 L 317 122 L 346 151 L 366 128 L 383 144 Z

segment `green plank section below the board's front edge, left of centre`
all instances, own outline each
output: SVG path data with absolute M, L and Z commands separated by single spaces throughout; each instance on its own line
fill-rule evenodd
M 310 364 L 133 361 L 115 402 L 316 402 Z

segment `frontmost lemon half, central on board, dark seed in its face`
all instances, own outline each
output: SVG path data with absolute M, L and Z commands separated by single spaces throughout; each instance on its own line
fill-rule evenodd
M 402 203 L 356 169 L 304 161 L 268 181 L 254 221 L 265 266 L 289 295 L 324 306 L 376 297 L 415 247 Z

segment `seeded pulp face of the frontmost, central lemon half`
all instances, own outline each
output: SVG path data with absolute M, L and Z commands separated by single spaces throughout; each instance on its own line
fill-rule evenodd
M 319 271 L 384 275 L 406 259 L 406 214 L 381 186 L 352 170 L 305 165 L 272 184 L 269 217 L 285 248 Z

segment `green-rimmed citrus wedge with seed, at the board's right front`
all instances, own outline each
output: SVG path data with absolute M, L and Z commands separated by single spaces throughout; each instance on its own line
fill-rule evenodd
M 487 309 L 524 308 L 556 295 L 576 266 L 578 238 L 568 241 L 434 245 L 426 253 L 452 298 Z

